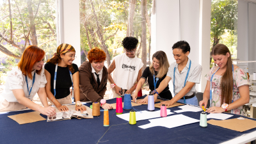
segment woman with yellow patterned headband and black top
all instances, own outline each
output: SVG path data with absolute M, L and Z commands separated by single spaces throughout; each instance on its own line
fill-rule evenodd
M 72 93 L 76 99 L 76 110 L 86 110 L 79 101 L 79 70 L 77 65 L 72 63 L 75 58 L 74 47 L 61 44 L 54 56 L 45 64 L 45 76 L 48 82 L 45 86 L 47 97 L 60 111 L 68 111 L 67 106 L 62 104 L 72 103 Z M 72 93 L 70 93 L 71 86 Z

